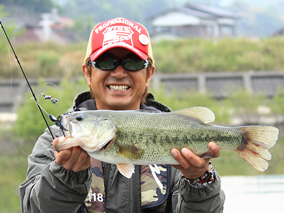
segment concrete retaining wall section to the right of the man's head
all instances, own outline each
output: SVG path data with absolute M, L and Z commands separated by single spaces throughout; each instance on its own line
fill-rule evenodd
M 168 92 L 196 90 L 210 92 L 215 98 L 226 97 L 230 91 L 243 88 L 255 93 L 274 96 L 284 90 L 284 71 L 247 71 L 195 74 L 154 74 L 152 86 L 162 82 Z

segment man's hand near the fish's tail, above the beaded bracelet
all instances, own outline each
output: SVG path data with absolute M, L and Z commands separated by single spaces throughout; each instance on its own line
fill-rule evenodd
M 213 157 L 218 157 L 220 155 L 219 147 L 213 143 L 209 143 L 209 149 Z M 179 169 L 185 177 L 188 179 L 200 178 L 206 173 L 210 158 L 203 159 L 195 155 L 188 148 L 182 148 L 181 152 L 173 148 L 171 154 L 179 163 L 178 165 L 171 165 Z

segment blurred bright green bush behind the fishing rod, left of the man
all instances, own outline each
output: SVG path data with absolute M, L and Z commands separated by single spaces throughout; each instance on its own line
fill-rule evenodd
M 41 78 L 38 85 L 41 85 L 41 88 L 34 87 L 34 91 L 39 89 L 38 92 L 35 93 L 39 104 L 46 112 L 55 117 L 65 113 L 71 107 L 73 98 L 77 93 L 89 89 L 84 78 L 79 78 L 77 81 L 64 79 L 61 81 L 59 87 L 54 84 L 44 83 L 44 80 Z M 44 100 L 43 96 L 40 95 L 41 93 L 51 95 L 60 100 L 56 104 L 53 104 L 48 99 Z M 17 139 L 34 144 L 36 139 L 43 134 L 47 126 L 38 106 L 30 97 L 31 94 L 26 93 L 24 103 L 17 111 L 18 118 L 15 124 L 14 135 Z M 45 113 L 44 115 L 50 126 L 55 124 L 50 121 Z

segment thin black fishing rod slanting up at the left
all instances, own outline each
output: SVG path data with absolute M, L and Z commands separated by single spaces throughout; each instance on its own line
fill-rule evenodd
M 44 114 L 43 114 L 43 111 L 42 111 L 42 109 L 41 109 L 41 106 L 39 105 L 39 102 L 38 102 L 38 100 L 37 100 L 37 98 L 36 98 L 36 96 L 35 96 L 35 94 L 34 94 L 34 91 L 33 91 L 32 87 L 31 87 L 31 85 L 30 85 L 30 82 L 29 82 L 29 80 L 28 80 L 28 78 L 27 78 L 27 76 L 26 76 L 26 74 L 25 74 L 25 72 L 24 72 L 24 70 L 23 70 L 23 68 L 22 68 L 22 66 L 21 66 L 21 63 L 20 63 L 20 61 L 19 61 L 19 59 L 18 59 L 18 57 L 17 57 L 17 55 L 16 55 L 16 52 L 15 52 L 15 50 L 14 50 L 14 48 L 13 48 L 11 42 L 10 42 L 10 39 L 9 39 L 7 33 L 6 33 L 6 30 L 4 29 L 4 26 L 3 26 L 2 22 L 1 22 L 1 19 L 0 19 L 0 25 L 1 25 L 2 29 L 3 29 L 3 32 L 4 32 L 4 34 L 5 34 L 5 36 L 6 36 L 7 40 L 8 40 L 8 42 L 9 42 L 9 45 L 10 45 L 10 47 L 11 47 L 13 53 L 14 53 L 15 60 L 16 60 L 17 63 L 19 64 L 20 69 L 21 69 L 21 71 L 22 71 L 22 73 L 23 73 L 23 75 L 24 75 L 24 77 L 25 77 L 25 79 L 26 79 L 26 81 L 27 81 L 27 84 L 28 84 L 28 86 L 29 86 L 29 89 L 30 89 L 30 91 L 31 91 L 31 93 L 32 93 L 32 95 L 33 95 L 33 99 L 35 100 L 35 102 L 36 102 L 36 104 L 37 104 L 37 106 L 38 106 L 38 108 L 39 108 L 39 111 L 41 112 L 41 115 L 42 115 L 42 117 L 43 117 L 43 119 L 44 119 L 44 121 L 45 121 L 45 123 L 46 123 L 46 125 L 47 125 L 47 128 L 48 128 L 48 130 L 49 130 L 49 132 L 50 132 L 50 134 L 51 134 L 51 136 L 52 136 L 52 138 L 53 138 L 53 140 L 54 140 L 55 137 L 54 137 L 53 133 L 51 132 L 50 126 L 49 126 L 48 123 L 47 123 L 47 120 L 46 120 L 46 118 L 45 118 L 45 116 L 44 116 Z M 49 115 L 49 118 L 53 121 L 54 116 L 53 116 L 53 115 Z M 56 119 L 56 118 L 55 118 L 55 119 Z

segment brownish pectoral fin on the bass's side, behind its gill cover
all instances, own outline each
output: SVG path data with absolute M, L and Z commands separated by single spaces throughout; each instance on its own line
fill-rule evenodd
M 137 147 L 135 144 L 130 145 L 117 143 L 116 145 L 118 147 L 117 153 L 127 159 L 140 159 L 144 153 L 144 150 L 140 147 Z

